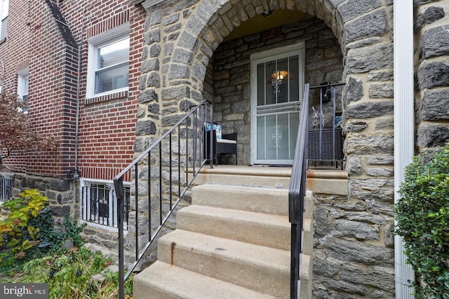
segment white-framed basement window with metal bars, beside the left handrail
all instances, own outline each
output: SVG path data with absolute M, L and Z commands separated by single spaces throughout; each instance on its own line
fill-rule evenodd
M 128 228 L 130 184 L 124 184 L 124 227 Z M 117 228 L 117 197 L 112 181 L 81 181 L 81 220 Z

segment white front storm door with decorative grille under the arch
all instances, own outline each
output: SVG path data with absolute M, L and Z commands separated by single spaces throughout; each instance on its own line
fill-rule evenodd
M 304 87 L 304 44 L 251 56 L 253 164 L 292 165 Z

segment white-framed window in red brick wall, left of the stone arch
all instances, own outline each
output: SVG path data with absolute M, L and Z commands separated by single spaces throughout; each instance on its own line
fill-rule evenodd
M 129 25 L 88 40 L 87 97 L 128 90 Z

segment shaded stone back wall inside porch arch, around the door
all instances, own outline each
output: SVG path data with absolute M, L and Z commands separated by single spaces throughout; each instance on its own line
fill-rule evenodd
M 250 55 L 295 43 L 305 43 L 305 82 L 340 83 L 343 57 L 332 30 L 318 18 L 310 18 L 221 43 L 213 55 L 214 121 L 224 134 L 238 132 L 239 165 L 250 163 Z M 319 104 L 311 92 L 311 105 Z M 302 99 L 301 99 L 302 100 Z M 341 105 L 340 105 L 341 109 Z M 234 156 L 222 158 L 234 163 Z

